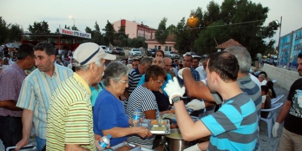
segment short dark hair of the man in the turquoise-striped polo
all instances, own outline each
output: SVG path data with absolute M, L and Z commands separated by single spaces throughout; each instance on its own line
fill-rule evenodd
M 239 64 L 236 56 L 231 53 L 221 51 L 210 55 L 207 68 L 210 72 L 216 72 L 224 82 L 237 80 Z

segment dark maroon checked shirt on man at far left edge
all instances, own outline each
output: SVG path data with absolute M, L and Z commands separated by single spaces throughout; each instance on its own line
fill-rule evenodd
M 3 69 L 0 73 L 0 101 L 14 100 L 16 102 L 25 78 L 26 74 L 24 70 L 16 63 Z M 22 111 L 0 108 L 0 115 L 21 117 Z

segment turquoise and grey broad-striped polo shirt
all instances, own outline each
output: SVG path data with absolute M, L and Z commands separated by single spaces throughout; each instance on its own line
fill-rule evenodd
M 258 118 L 246 93 L 224 100 L 217 112 L 201 121 L 211 132 L 208 151 L 255 151 Z

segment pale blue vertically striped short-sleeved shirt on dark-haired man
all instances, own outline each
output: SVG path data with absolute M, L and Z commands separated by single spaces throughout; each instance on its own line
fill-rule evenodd
M 55 65 L 52 77 L 39 69 L 32 71 L 23 81 L 17 107 L 33 110 L 35 135 L 46 139 L 49 101 L 59 84 L 73 74 L 71 69 Z

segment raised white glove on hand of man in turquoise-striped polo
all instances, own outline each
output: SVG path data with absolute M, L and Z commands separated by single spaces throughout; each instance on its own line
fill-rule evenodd
M 181 87 L 178 83 L 177 78 L 173 77 L 173 81 L 169 80 L 169 82 L 166 84 L 164 91 L 166 91 L 166 94 L 169 96 L 170 104 L 172 104 L 171 96 L 183 96 L 185 87 Z

